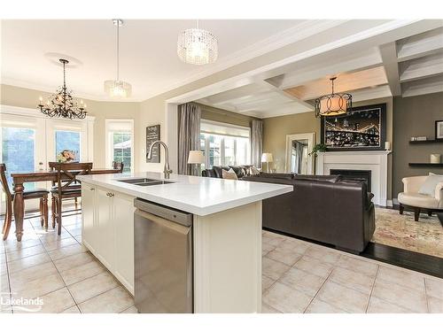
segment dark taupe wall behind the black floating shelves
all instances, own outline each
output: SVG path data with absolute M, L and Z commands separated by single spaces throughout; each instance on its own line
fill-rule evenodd
M 431 153 L 443 155 L 443 143 L 409 144 L 412 136 L 435 137 L 435 121 L 443 120 L 443 93 L 393 99 L 392 197 L 403 191 L 401 179 L 443 174 L 441 167 L 409 167 L 411 162 L 429 162 Z

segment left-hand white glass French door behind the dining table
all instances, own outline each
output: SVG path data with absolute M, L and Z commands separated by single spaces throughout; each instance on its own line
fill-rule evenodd
M 46 161 L 45 125 L 43 119 L 2 114 L 0 126 L 0 162 L 6 164 L 6 178 L 12 190 L 12 173 L 44 169 Z M 46 183 L 25 183 L 25 190 L 45 188 Z M 4 213 L 4 193 L 0 195 L 0 212 Z M 25 210 L 36 210 L 38 199 L 25 202 Z

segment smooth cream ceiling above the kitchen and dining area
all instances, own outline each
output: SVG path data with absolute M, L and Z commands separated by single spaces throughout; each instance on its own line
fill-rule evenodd
M 215 64 L 184 64 L 176 54 L 178 34 L 194 27 L 189 19 L 129 19 L 120 29 L 120 79 L 132 84 L 130 100 L 144 100 L 186 82 L 233 66 L 260 50 L 268 50 L 276 36 L 307 26 L 307 20 L 213 19 L 199 25 L 218 37 Z M 62 72 L 47 53 L 78 59 L 67 71 L 68 86 L 76 96 L 106 100 L 105 80 L 116 73 L 116 31 L 111 19 L 2 20 L 1 79 L 5 84 L 52 91 Z M 272 37 L 272 38 L 271 38 Z

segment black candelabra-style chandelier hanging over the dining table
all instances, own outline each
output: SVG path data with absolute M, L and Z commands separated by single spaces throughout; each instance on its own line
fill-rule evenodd
M 64 58 L 59 61 L 63 65 L 63 86 L 57 89 L 57 92 L 48 98 L 46 104 L 43 104 L 43 97 L 40 97 L 40 103 L 37 105 L 40 112 L 53 118 L 66 119 L 84 119 L 88 112 L 86 112 L 86 104 L 80 101 L 80 105 L 74 100 L 72 96 L 73 91 L 66 88 L 66 64 L 69 63 Z

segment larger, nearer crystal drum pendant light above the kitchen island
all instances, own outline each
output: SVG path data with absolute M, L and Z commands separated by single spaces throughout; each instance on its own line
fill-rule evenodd
M 215 35 L 198 27 L 184 30 L 178 35 L 177 54 L 183 62 L 192 65 L 212 64 L 218 57 Z

